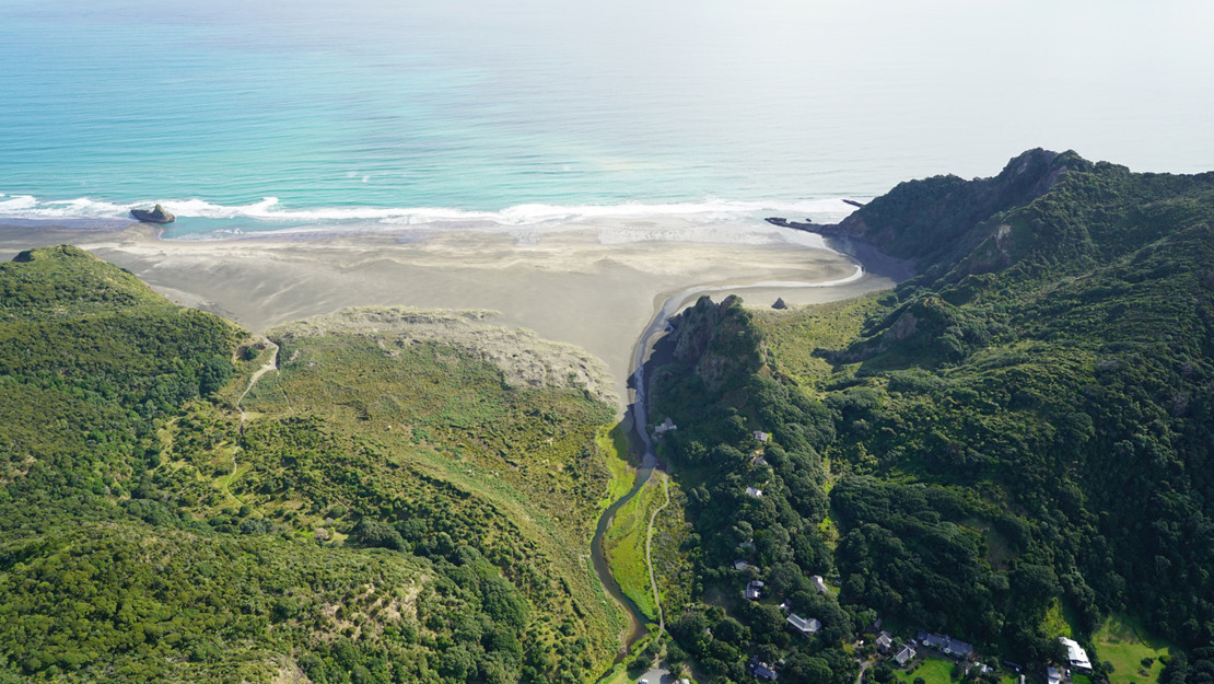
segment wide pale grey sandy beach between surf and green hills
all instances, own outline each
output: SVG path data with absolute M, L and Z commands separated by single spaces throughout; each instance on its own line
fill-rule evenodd
M 492 309 L 495 322 L 577 345 L 602 358 L 617 394 L 632 346 L 660 303 L 696 286 L 742 286 L 748 305 L 830 301 L 892 287 L 897 273 L 857 273 L 818 236 L 759 227 L 734 239 L 693 225 L 566 225 L 521 237 L 505 231 L 408 234 L 271 234 L 165 241 L 137 224 L 112 230 L 0 225 L 0 259 L 70 243 L 129 268 L 170 300 L 253 332 L 350 306 Z M 781 232 L 783 231 L 783 232 Z M 787 233 L 787 234 L 785 234 Z M 690 237 L 696 236 L 696 237 Z M 847 281 L 834 287 L 794 283 Z M 762 287 L 753 287 L 764 283 Z M 749 287 L 747 287 L 749 286 Z

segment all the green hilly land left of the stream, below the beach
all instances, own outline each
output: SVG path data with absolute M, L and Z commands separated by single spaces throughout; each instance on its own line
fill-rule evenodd
M 606 669 L 597 369 L 408 328 L 271 341 L 70 247 L 0 265 L 0 680 Z

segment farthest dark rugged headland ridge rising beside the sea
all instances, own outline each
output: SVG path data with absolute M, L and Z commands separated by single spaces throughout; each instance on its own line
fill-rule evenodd
M 1214 173 L 1133 174 L 1074 152 L 1031 149 L 994 177 L 900 183 L 828 232 L 914 259 L 919 284 L 1019 266 L 1083 272 L 1208 219 Z

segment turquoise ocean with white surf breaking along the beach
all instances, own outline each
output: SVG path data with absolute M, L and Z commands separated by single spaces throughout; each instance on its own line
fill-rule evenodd
M 1209 170 L 1210 7 L 0 0 L 0 220 L 830 215 L 1038 146 Z

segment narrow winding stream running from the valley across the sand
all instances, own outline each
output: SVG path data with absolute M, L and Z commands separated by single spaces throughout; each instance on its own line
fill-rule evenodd
M 599 576 L 599 581 L 602 582 L 603 589 L 622 606 L 628 615 L 629 632 L 624 643 L 620 645 L 619 655 L 615 657 L 615 662 L 620 662 L 632 648 L 632 644 L 643 637 L 648 629 L 646 628 L 647 618 L 641 609 L 636 604 L 624 595 L 620 589 L 619 583 L 615 582 L 615 577 L 611 573 L 611 567 L 607 565 L 607 555 L 603 552 L 603 537 L 607 533 L 607 528 L 611 527 L 612 519 L 624 504 L 626 504 L 636 492 L 641 491 L 641 487 L 648 482 L 649 476 L 653 470 L 662 469 L 663 465 L 658 462 L 658 456 L 653 451 L 653 442 L 649 439 L 648 430 L 648 412 L 646 407 L 646 384 L 645 384 L 645 362 L 649 354 L 653 351 L 653 345 L 657 339 L 666 329 L 666 323 L 670 317 L 676 312 L 682 310 L 693 298 L 698 298 L 703 294 L 714 292 L 726 292 L 726 290 L 739 290 L 739 289 L 755 289 L 755 288 L 828 288 L 838 287 L 847 283 L 858 281 L 864 276 L 864 268 L 860 265 L 856 266 L 856 272 L 845 278 L 836 281 L 826 281 L 817 283 L 809 283 L 801 281 L 764 281 L 758 283 L 744 283 L 744 284 L 715 284 L 715 286 L 696 286 L 681 290 L 671 296 L 668 296 L 658 311 L 649 320 L 649 324 L 641 333 L 641 338 L 637 340 L 636 346 L 632 347 L 632 361 L 631 368 L 632 373 L 629 375 L 629 406 L 628 413 L 632 419 L 632 429 L 629 433 L 629 440 L 634 446 L 643 446 L 645 456 L 641 458 L 641 467 L 636 471 L 636 482 L 632 488 L 629 490 L 626 494 L 620 497 L 615 503 L 607 507 L 607 510 L 599 518 L 599 524 L 595 526 L 595 536 L 590 541 L 590 555 L 594 560 L 595 573 Z

